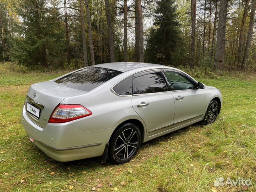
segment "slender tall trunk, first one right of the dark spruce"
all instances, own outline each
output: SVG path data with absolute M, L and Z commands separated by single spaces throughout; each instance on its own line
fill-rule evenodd
M 191 0 L 191 64 L 195 66 L 196 0 Z

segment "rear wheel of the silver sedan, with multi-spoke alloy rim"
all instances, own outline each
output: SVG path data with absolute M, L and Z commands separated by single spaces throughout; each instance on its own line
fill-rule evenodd
M 138 152 L 141 133 L 135 124 L 127 123 L 114 132 L 108 149 L 108 158 L 114 164 L 126 163 Z

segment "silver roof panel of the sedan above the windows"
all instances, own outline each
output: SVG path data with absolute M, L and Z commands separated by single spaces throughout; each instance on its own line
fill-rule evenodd
M 114 62 L 114 63 L 104 63 L 94 65 L 94 67 L 102 67 L 113 69 L 121 72 L 126 72 L 128 70 L 142 68 L 142 67 L 166 67 L 164 65 L 152 64 L 152 63 L 142 63 L 142 62 Z

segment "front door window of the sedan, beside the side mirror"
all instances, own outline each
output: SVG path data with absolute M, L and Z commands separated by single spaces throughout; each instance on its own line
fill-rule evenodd
M 173 91 L 195 88 L 193 82 L 189 78 L 187 78 L 186 76 L 183 76 L 182 74 L 180 74 L 178 72 L 164 70 L 164 74 L 166 75 L 166 77 L 170 83 L 171 90 L 173 90 Z

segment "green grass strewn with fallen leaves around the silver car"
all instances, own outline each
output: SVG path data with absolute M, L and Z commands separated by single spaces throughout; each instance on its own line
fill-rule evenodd
M 30 84 L 60 72 L 0 68 L 0 191 L 237 192 L 214 186 L 216 178 L 250 179 L 256 191 L 256 80 L 198 78 L 220 88 L 222 112 L 214 124 L 193 125 L 142 144 L 124 165 L 100 158 L 56 162 L 35 147 L 20 124 Z

